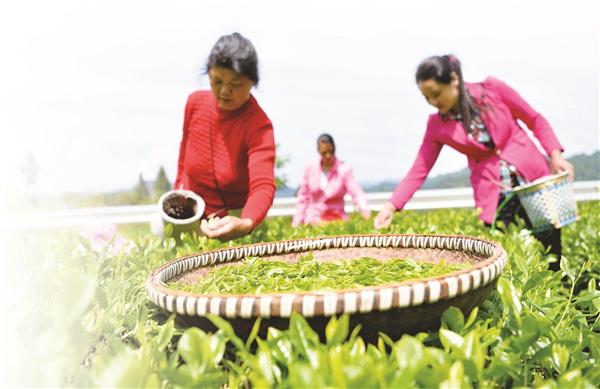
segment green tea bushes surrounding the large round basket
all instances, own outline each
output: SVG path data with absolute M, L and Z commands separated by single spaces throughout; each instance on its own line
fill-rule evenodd
M 600 386 L 600 203 L 579 204 L 563 229 L 561 273 L 520 226 L 491 233 L 472 210 L 402 212 L 381 233 L 482 236 L 509 263 L 498 287 L 468 317 L 455 308 L 434 333 L 366 344 L 348 317 L 326 342 L 298 315 L 288 330 L 243 341 L 185 328 L 147 299 L 158 265 L 188 253 L 264 241 L 378 233 L 372 221 L 292 228 L 268 220 L 236 242 L 184 236 L 161 241 L 123 231 L 132 247 L 94 250 L 72 230 L 4 234 L 3 378 L 9 387 L 589 387 Z M 7 319 L 8 318 L 8 319 Z M 256 327 L 257 328 L 257 327 Z

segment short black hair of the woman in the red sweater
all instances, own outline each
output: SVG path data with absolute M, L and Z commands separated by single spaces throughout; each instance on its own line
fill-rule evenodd
M 244 38 L 237 32 L 220 37 L 213 46 L 206 62 L 206 72 L 208 73 L 215 66 L 221 66 L 243 74 L 252 81 L 253 85 L 258 85 L 258 56 L 256 50 L 249 39 Z

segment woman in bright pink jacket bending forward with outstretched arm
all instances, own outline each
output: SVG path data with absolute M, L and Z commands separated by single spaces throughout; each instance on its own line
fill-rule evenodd
M 481 83 L 465 83 L 460 62 L 452 55 L 424 60 L 416 81 L 427 102 L 439 112 L 429 116 L 417 158 L 375 218 L 375 228 L 390 225 L 394 212 L 421 187 L 444 145 L 467 156 L 475 207 L 482 209 L 479 218 L 488 226 L 511 187 L 565 170 L 573 181 L 573 166 L 563 159 L 563 147 L 548 121 L 504 82 L 488 77 Z M 533 131 L 550 156 L 550 166 L 517 119 Z M 503 210 L 498 220 L 505 224 L 514 222 L 516 213 L 529 224 L 516 196 Z M 538 239 L 560 258 L 560 229 Z M 551 268 L 558 270 L 558 262 Z

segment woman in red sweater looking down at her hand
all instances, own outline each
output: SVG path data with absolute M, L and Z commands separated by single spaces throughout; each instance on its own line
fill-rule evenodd
M 192 93 L 185 107 L 175 189 L 206 202 L 200 229 L 222 242 L 249 234 L 275 195 L 273 125 L 250 89 L 258 57 L 238 33 L 219 38 L 206 64 L 210 91 Z M 241 217 L 227 210 L 243 208 Z M 211 223 L 206 215 L 215 214 Z

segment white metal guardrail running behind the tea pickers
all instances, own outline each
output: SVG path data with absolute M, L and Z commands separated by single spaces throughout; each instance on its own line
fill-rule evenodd
M 577 181 L 573 184 L 573 192 L 576 201 L 600 201 L 600 181 Z M 371 209 L 374 211 L 380 211 L 390 196 L 390 192 L 367 193 Z M 345 200 L 346 212 L 354 211 L 352 199 L 347 196 Z M 428 189 L 418 190 L 404 209 L 472 208 L 474 205 L 471 188 Z M 276 198 L 267 218 L 291 216 L 294 214 L 295 206 L 295 197 Z M 103 223 L 147 223 L 156 211 L 156 205 L 151 204 L 3 214 L 0 215 L 0 230 L 73 227 Z

